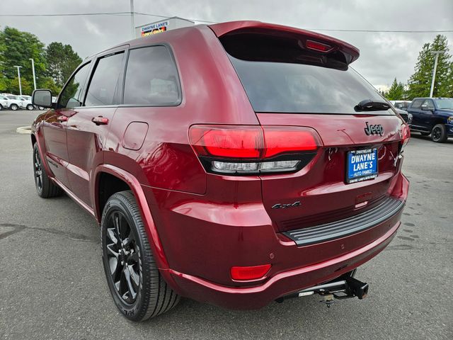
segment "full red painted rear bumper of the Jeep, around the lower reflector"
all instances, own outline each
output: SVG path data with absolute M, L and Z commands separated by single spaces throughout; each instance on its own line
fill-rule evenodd
M 405 202 L 408 186 L 398 171 L 388 195 Z M 275 232 L 262 203 L 187 203 L 190 196 L 185 193 L 156 188 L 144 188 L 144 193 L 148 202 L 151 195 L 166 198 L 151 208 L 168 260 L 168 267 L 160 268 L 167 283 L 182 296 L 231 309 L 260 308 L 352 271 L 391 242 L 403 211 L 354 234 L 299 246 L 284 233 Z M 231 279 L 231 266 L 266 263 L 272 267 L 259 280 Z

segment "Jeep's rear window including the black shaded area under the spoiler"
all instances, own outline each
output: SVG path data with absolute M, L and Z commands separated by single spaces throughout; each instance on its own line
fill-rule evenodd
M 369 115 L 355 106 L 366 99 L 385 101 L 348 67 L 352 55 L 341 48 L 312 50 L 303 34 L 279 30 L 238 30 L 219 39 L 256 112 Z

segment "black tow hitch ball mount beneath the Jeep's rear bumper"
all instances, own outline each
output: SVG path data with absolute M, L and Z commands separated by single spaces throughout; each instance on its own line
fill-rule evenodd
M 368 283 L 363 283 L 354 278 L 355 271 L 356 270 L 354 269 L 353 271 L 345 273 L 339 278 L 331 280 L 327 283 L 315 285 L 314 287 L 299 290 L 299 292 L 297 293 L 279 297 L 275 301 L 283 302 L 284 300 L 292 297 L 302 297 L 318 294 L 323 297 L 323 300 L 321 300 L 320 302 L 325 303 L 327 307 L 331 307 L 335 299 L 343 300 L 349 299 L 351 297 L 358 297 L 359 300 L 362 300 L 367 297 Z

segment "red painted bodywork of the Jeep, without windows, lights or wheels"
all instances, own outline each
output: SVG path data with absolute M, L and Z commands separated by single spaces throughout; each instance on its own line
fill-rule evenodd
M 401 211 L 365 231 L 309 246 L 297 246 L 282 232 L 355 215 L 384 197 L 404 201 L 408 181 L 401 174 L 402 159 L 396 159 L 403 124 L 396 115 L 255 113 L 218 38 L 237 30 L 301 35 L 353 59 L 359 55 L 355 47 L 325 35 L 255 21 L 171 30 L 121 48 L 168 46 L 180 77 L 178 105 L 51 109 L 36 118 L 32 130 L 47 156 L 47 173 L 98 222 L 101 174 L 130 187 L 171 288 L 243 309 L 331 280 L 377 255 L 394 237 Z M 60 115 L 67 121 L 59 121 Z M 99 116 L 108 122 L 93 123 Z M 384 135 L 365 135 L 366 122 L 382 125 Z M 322 145 L 306 166 L 289 174 L 212 174 L 190 145 L 193 125 L 309 127 Z M 345 184 L 346 153 L 367 147 L 379 150 L 379 176 Z M 272 209 L 294 201 L 301 205 Z M 233 266 L 268 263 L 272 267 L 263 278 L 231 278 Z

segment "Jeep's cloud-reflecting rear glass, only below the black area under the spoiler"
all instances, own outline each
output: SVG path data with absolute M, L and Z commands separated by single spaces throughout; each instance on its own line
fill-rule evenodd
M 360 101 L 384 101 L 350 68 L 230 59 L 256 112 L 360 114 L 354 110 Z

